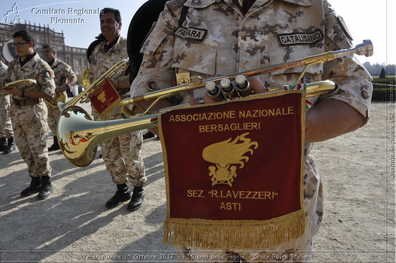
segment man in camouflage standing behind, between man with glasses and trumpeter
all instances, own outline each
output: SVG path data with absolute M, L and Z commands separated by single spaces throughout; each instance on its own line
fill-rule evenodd
M 61 101 L 61 94 L 63 94 L 67 100 L 66 90 L 76 83 L 77 77 L 69 65 L 56 57 L 56 46 L 44 45 L 43 50 L 44 59 L 51 67 L 54 74 L 53 78 L 57 86 L 55 89 L 56 97 L 54 103 L 57 105 L 58 102 Z M 66 102 L 66 100 L 62 102 Z M 60 114 L 61 111 L 59 111 L 59 108 L 48 105 L 48 127 L 52 131 L 52 135 L 56 135 L 57 122 Z M 53 145 L 48 148 L 48 151 L 51 152 L 59 149 L 58 137 L 53 136 Z

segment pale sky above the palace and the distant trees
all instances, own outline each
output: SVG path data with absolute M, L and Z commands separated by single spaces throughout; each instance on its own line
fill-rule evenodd
M 30 23 L 41 26 L 49 25 L 50 29 L 55 32 L 62 32 L 65 35 L 65 44 L 71 47 L 88 48 L 89 44 L 95 40 L 95 36 L 100 33 L 99 15 L 68 14 L 69 8 L 72 10 L 97 10 L 99 8 L 112 7 L 120 10 L 122 17 L 121 34 L 126 37 L 128 34 L 129 23 L 146 0 L 113 0 L 113 1 L 34 1 L 19 0 L 19 13 L 22 15 L 22 23 Z M 396 34 L 395 19 L 392 19 L 392 10 L 396 8 L 395 0 L 329 0 L 330 4 L 341 15 L 351 32 L 354 46 L 361 43 L 364 39 L 370 39 L 373 42 L 374 54 L 371 57 L 359 56 L 362 63 L 369 61 L 374 63 L 395 64 L 396 53 L 391 48 L 395 46 Z M 111 3 L 111 4 L 110 4 Z M 375 3 L 375 4 L 374 4 Z M 4 14 L 12 10 L 15 0 L 2 0 L 0 3 L 1 16 L 0 22 L 5 23 Z M 36 8 L 36 9 L 34 9 Z M 66 14 L 39 14 L 36 10 L 65 10 Z M 36 14 L 34 14 L 36 13 Z M 80 24 L 60 24 L 53 21 L 51 17 L 58 19 L 84 19 Z M 52 22 L 52 23 L 51 23 Z

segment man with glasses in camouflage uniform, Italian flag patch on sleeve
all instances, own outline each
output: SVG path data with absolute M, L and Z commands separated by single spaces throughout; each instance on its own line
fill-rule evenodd
M 45 199 L 53 192 L 53 187 L 47 149 L 48 110 L 43 98 L 52 99 L 55 94 L 53 71 L 33 50 L 34 39 L 30 32 L 17 31 L 13 40 L 18 57 L 10 62 L 6 76 L 0 80 L 0 90 L 3 91 L 6 82 L 25 78 L 36 80 L 36 84 L 22 90 L 15 86 L 7 90 L 13 99 L 10 115 L 15 141 L 31 177 L 30 186 L 21 196 L 38 192 L 37 198 Z

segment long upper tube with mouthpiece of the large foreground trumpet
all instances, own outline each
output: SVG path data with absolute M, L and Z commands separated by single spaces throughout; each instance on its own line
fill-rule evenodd
M 372 44 L 371 40 L 369 40 L 369 39 L 363 40 L 362 43 L 356 45 L 354 48 L 348 48 L 345 50 L 337 50 L 337 51 L 329 51 L 329 52 L 326 52 L 323 54 L 305 57 L 303 59 L 298 59 L 298 60 L 281 63 L 281 64 L 276 64 L 276 65 L 270 65 L 270 66 L 262 67 L 262 68 L 258 68 L 258 69 L 252 69 L 249 71 L 242 71 L 242 72 L 238 72 L 235 74 L 229 74 L 229 75 L 225 75 L 225 76 L 210 78 L 210 79 L 207 79 L 204 81 L 202 81 L 202 78 L 200 76 L 192 76 L 191 79 L 198 79 L 198 81 L 171 87 L 171 88 L 167 88 L 164 90 L 152 91 L 149 93 L 145 93 L 143 95 L 137 95 L 137 96 L 134 96 L 131 98 L 124 99 L 120 103 L 120 108 L 126 116 L 135 116 L 135 115 L 137 115 L 137 113 L 128 109 L 129 105 L 135 104 L 137 107 L 141 108 L 144 111 L 143 113 L 141 113 L 139 115 L 145 115 L 145 114 L 149 114 L 150 109 L 160 99 L 171 97 L 177 93 L 182 93 L 185 91 L 203 88 L 206 86 L 206 83 L 208 83 L 208 82 L 218 83 L 222 79 L 225 79 L 225 78 L 228 78 L 229 80 L 234 80 L 237 75 L 244 75 L 245 77 L 256 76 L 256 75 L 261 75 L 261 74 L 265 74 L 265 73 L 269 73 L 269 72 L 274 72 L 274 71 L 279 71 L 279 70 L 284 70 L 284 69 L 289 69 L 292 67 L 298 67 L 298 66 L 305 65 L 303 71 L 301 72 L 301 74 L 297 78 L 296 82 L 294 83 L 294 85 L 296 85 L 300 82 L 301 78 L 303 78 L 303 75 L 307 71 L 308 67 L 310 67 L 312 65 L 324 63 L 325 61 L 330 61 L 333 59 L 337 59 L 340 57 L 345 57 L 347 55 L 353 55 L 353 54 L 365 55 L 366 57 L 373 55 L 373 44 Z M 270 91 L 275 90 L 275 89 L 279 89 L 279 87 L 269 88 Z M 154 100 L 154 102 L 147 109 L 144 109 L 139 104 L 143 101 L 151 101 L 151 100 Z

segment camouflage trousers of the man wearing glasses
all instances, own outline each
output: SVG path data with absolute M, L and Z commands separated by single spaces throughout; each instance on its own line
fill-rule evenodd
M 15 131 L 15 142 L 26 162 L 30 177 L 51 176 L 48 159 L 48 126 L 47 120 L 18 120 L 12 122 Z

